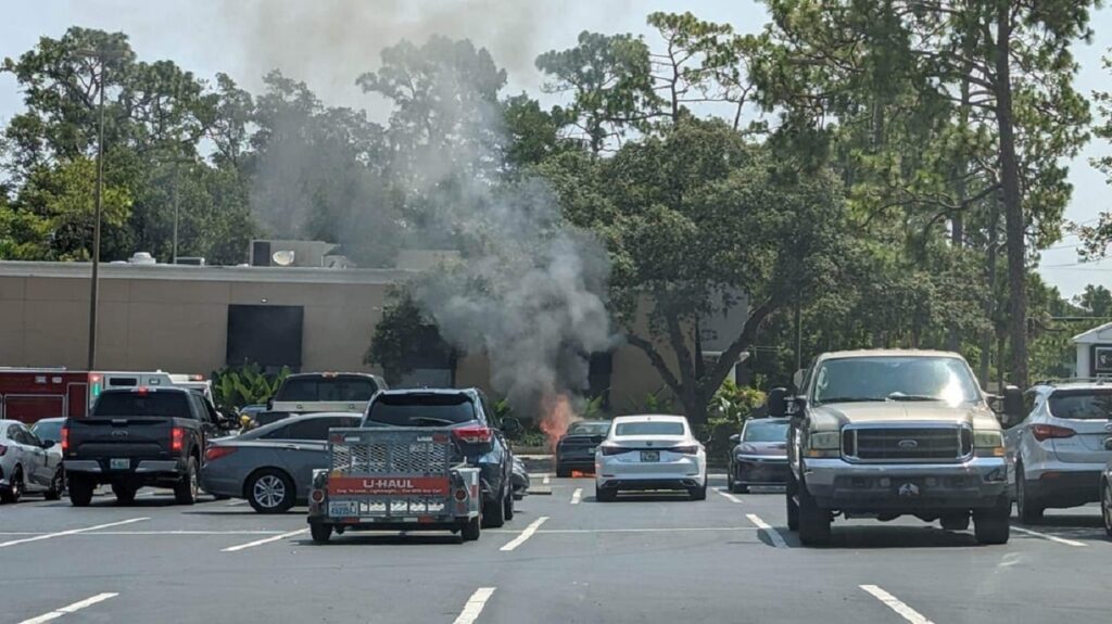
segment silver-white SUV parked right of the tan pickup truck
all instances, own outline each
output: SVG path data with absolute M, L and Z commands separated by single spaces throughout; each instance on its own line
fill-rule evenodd
M 1027 416 L 1004 432 L 1020 520 L 1100 500 L 1101 472 L 1112 460 L 1112 383 L 1043 382 L 1024 397 Z

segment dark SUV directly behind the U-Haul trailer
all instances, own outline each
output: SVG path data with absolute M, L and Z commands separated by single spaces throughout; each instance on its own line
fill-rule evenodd
M 514 517 L 514 455 L 492 413 L 475 389 L 387 390 L 371 399 L 363 426 L 451 427 L 457 459 L 480 470 L 483 525 L 498 527 Z

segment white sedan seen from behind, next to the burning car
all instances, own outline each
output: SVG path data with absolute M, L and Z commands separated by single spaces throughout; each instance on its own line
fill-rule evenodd
M 706 449 L 683 416 L 618 416 L 595 451 L 595 500 L 623 490 L 686 490 L 706 499 Z

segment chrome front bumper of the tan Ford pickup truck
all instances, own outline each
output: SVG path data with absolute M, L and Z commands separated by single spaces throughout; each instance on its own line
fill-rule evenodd
M 861 464 L 804 460 L 807 492 L 843 512 L 915 513 L 991 507 L 1007 492 L 1003 457 L 945 464 Z

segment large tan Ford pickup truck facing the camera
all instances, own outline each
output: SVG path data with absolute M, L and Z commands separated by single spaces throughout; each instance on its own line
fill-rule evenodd
M 825 353 L 770 393 L 788 430 L 787 517 L 800 541 L 830 541 L 835 516 L 914 515 L 1006 543 L 1011 497 L 1004 439 L 989 397 L 961 355 L 940 351 Z M 1009 389 L 1004 412 L 1022 411 Z

